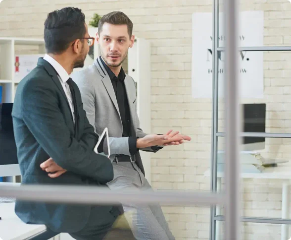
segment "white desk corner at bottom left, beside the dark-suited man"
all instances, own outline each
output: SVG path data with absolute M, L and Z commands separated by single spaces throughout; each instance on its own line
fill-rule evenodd
M 14 212 L 14 203 L 0 203 L 0 240 L 24 240 L 46 232 L 45 225 L 26 224 Z

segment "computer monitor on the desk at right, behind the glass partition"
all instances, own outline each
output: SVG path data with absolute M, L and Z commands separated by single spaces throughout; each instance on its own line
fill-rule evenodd
M 243 132 L 266 131 L 266 104 L 243 104 Z M 242 151 L 256 151 L 265 148 L 264 137 L 243 137 Z

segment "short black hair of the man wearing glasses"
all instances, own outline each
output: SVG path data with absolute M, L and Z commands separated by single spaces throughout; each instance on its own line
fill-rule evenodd
M 48 13 L 44 32 L 47 53 L 60 54 L 85 34 L 85 15 L 81 9 L 64 7 Z

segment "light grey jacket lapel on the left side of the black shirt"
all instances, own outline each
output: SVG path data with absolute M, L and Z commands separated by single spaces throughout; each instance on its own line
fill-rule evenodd
M 101 57 L 100 57 L 101 58 Z M 117 103 L 117 99 L 116 99 L 116 96 L 115 96 L 115 93 L 114 93 L 114 89 L 113 89 L 113 86 L 112 86 L 112 83 L 111 83 L 111 80 L 109 78 L 109 75 L 108 73 L 106 72 L 106 70 L 104 69 L 103 65 L 102 65 L 102 62 L 100 62 L 99 59 L 97 59 L 94 64 L 96 65 L 100 75 L 103 77 L 102 78 L 102 83 L 104 85 L 104 87 L 106 88 L 106 91 L 118 113 L 118 116 L 121 120 L 121 117 L 120 117 L 120 112 L 119 112 L 119 108 L 118 108 L 118 103 Z

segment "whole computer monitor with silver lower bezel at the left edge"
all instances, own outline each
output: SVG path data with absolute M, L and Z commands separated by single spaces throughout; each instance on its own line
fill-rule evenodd
M 20 176 L 13 133 L 12 103 L 0 103 L 0 177 Z

